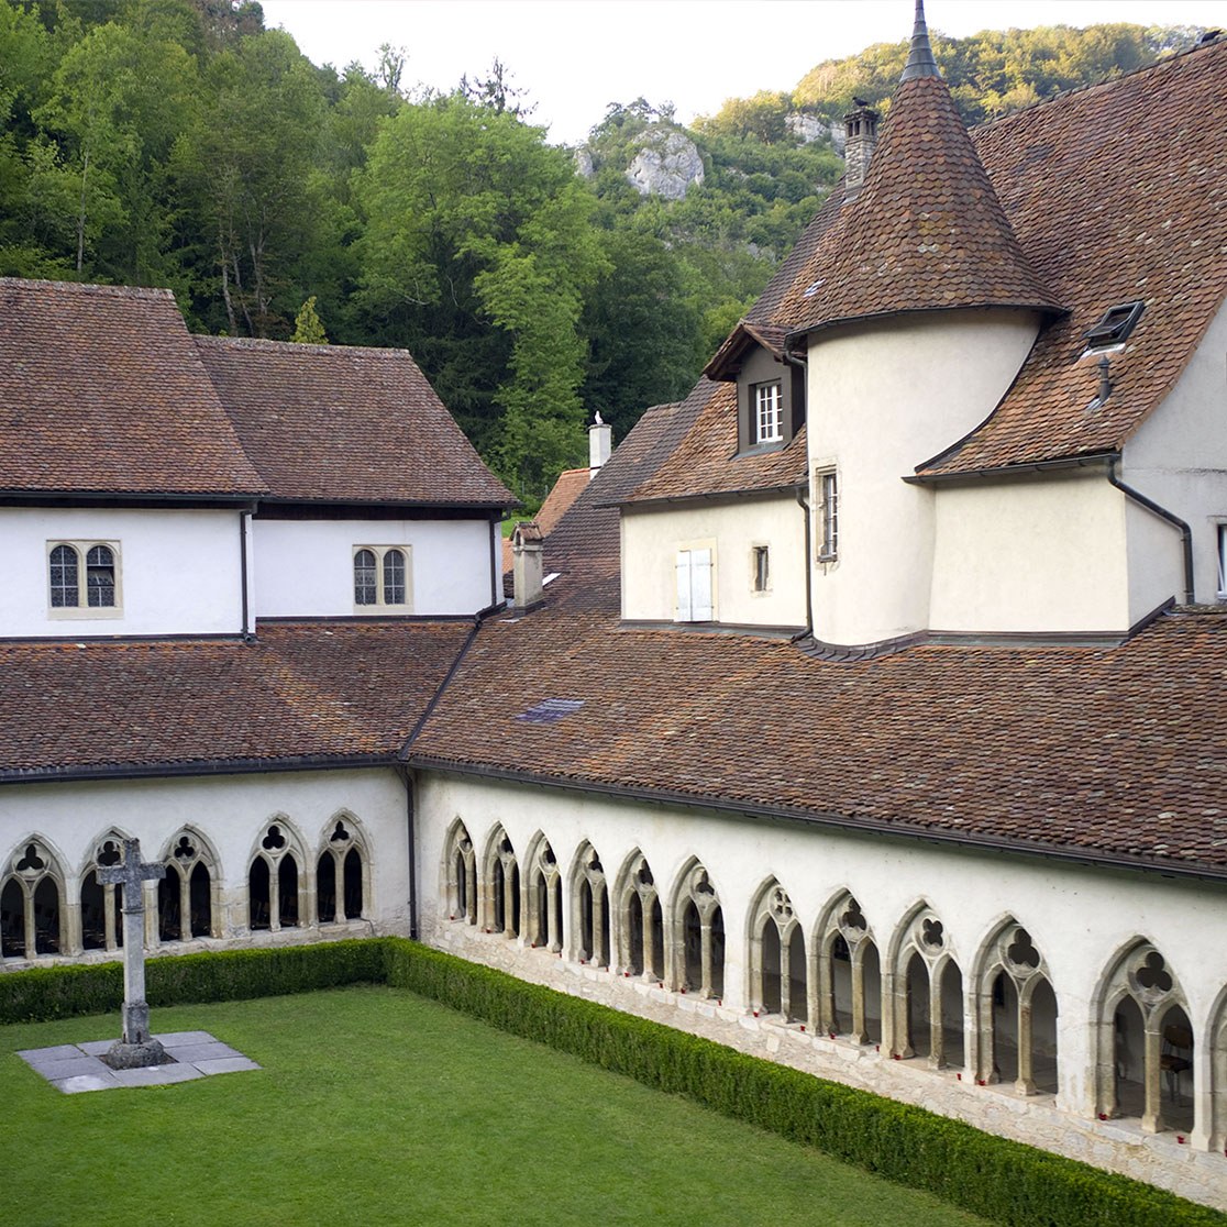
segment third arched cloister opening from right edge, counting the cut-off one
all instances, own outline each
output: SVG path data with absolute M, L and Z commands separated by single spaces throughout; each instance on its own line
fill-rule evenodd
M 1031 934 L 1011 920 L 989 942 L 977 991 L 980 1082 L 1056 1093 L 1056 998 Z

